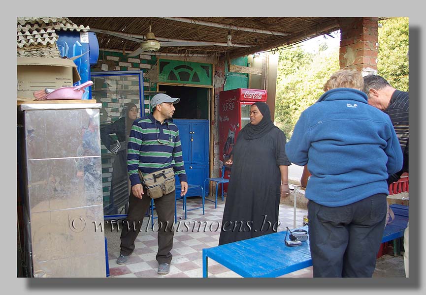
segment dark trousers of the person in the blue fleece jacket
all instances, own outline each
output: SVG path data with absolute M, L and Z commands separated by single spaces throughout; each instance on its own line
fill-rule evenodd
M 385 228 L 386 194 L 341 207 L 308 202 L 314 277 L 371 277 Z

